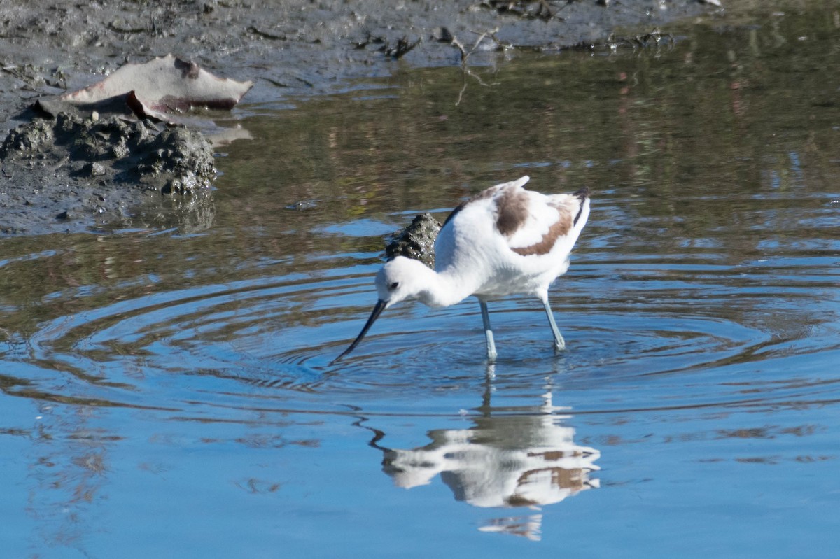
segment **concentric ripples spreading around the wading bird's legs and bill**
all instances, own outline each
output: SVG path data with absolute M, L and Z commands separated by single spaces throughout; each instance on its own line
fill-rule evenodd
M 801 367 L 808 354 L 823 353 L 822 361 L 838 351 L 827 337 L 837 332 L 836 301 L 816 314 L 801 312 L 815 290 L 832 289 L 832 259 L 815 265 L 820 260 L 710 266 L 673 264 L 676 257 L 665 264 L 663 257 L 584 256 L 551 293 L 568 352 L 554 354 L 536 301 L 491 304 L 496 388 L 546 375 L 567 391 L 622 387 L 620 397 L 590 411 L 815 397 L 818 389 L 795 374 L 790 383 L 751 383 L 756 395 L 749 397 L 735 377 L 759 362 L 764 370 L 769 361 L 785 368 L 798 357 Z M 335 410 L 343 400 L 381 394 L 412 400 L 479 389 L 490 369 L 475 300 L 443 310 L 410 303 L 389 309 L 355 353 L 330 364 L 365 321 L 377 265 L 116 301 L 41 323 L 25 355 L 29 366 L 50 371 L 50 380 L 38 374 L 37 384 L 52 398 L 71 393 L 189 413 Z

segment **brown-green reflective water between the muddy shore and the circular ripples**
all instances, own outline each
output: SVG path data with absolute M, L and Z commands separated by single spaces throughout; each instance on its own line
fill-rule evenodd
M 817 212 L 836 190 L 840 74 L 824 71 L 840 48 L 833 22 L 790 12 L 758 29 L 690 27 L 637 52 L 517 53 L 474 68 L 492 85 L 457 106 L 459 68 L 411 69 L 246 118 L 253 139 L 218 161 L 210 234 L 53 236 L 54 253 L 34 259 L 44 238 L 8 240 L 3 327 L 26 337 L 108 300 L 258 277 L 261 259 L 275 274 L 317 273 L 328 254 L 354 262 L 346 255 L 381 253 L 381 234 L 324 227 L 369 218 L 396 229 L 411 220 L 402 212 L 454 207 L 521 166 L 537 190 L 589 185 L 615 206 L 609 222 L 593 211 L 591 238 L 621 235 L 627 256 L 650 256 L 652 238 L 657 254 L 732 266 L 810 246 L 826 230 L 790 210 L 795 200 Z M 300 201 L 312 205 L 287 209 Z

